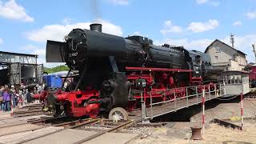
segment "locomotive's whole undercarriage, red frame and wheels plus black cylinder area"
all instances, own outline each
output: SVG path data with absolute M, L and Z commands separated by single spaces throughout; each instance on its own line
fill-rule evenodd
M 142 98 L 146 106 L 150 106 L 150 97 L 153 102 L 162 102 L 174 99 L 174 94 L 176 98 L 185 98 L 185 86 L 198 85 L 198 93 L 203 89 L 200 88 L 201 82 L 193 82 L 198 78 L 192 78 L 192 70 L 126 67 L 124 73 L 114 69 L 106 70 L 114 67 L 110 66 L 114 64 L 110 64 L 107 59 L 104 60 L 106 66 L 101 67 L 95 64 L 102 61 L 94 58 L 91 60 L 94 60 L 94 66 L 88 66 L 90 69 L 86 72 L 86 76 L 82 77 L 78 90 L 68 93 L 59 91 L 54 94 L 54 102 L 48 102 L 52 103 L 52 110 L 57 108 L 53 110 L 55 115 L 97 117 L 100 113 L 106 114 L 111 109 L 119 107 L 117 110 L 121 113 L 121 117 L 126 118 L 127 114 L 123 114 L 124 111 L 141 108 Z M 109 71 L 108 74 L 106 71 Z M 90 75 L 98 75 L 98 79 Z M 100 82 L 100 79 L 104 80 Z M 100 85 L 97 85 L 98 83 Z M 48 97 L 48 101 L 53 101 L 50 100 L 50 96 Z M 65 109 L 60 109 L 61 107 Z M 118 112 L 112 112 L 110 116 L 113 117 L 113 114 Z

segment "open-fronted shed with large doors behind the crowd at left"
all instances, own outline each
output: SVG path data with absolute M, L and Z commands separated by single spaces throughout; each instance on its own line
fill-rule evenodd
M 42 83 L 42 64 L 36 54 L 0 51 L 0 85 L 30 85 Z

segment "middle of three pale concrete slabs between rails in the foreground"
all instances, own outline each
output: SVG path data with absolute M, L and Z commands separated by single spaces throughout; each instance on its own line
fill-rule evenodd
M 26 144 L 44 144 L 44 143 L 54 143 L 54 144 L 70 144 L 78 142 L 82 138 L 89 137 L 90 135 L 96 134 L 94 131 L 87 130 L 73 130 L 67 129 L 62 130 L 55 134 L 50 134 L 42 138 L 34 139 L 30 142 L 25 142 Z

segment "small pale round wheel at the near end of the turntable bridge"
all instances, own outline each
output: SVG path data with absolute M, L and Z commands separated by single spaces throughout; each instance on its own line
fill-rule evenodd
M 115 107 L 114 109 L 110 110 L 109 114 L 110 120 L 128 120 L 128 113 L 122 107 Z

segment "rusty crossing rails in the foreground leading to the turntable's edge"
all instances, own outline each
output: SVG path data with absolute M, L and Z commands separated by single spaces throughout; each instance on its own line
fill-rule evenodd
M 42 134 L 35 138 L 29 138 L 20 142 L 16 143 L 24 143 L 36 140 L 38 138 L 43 138 L 51 134 L 56 134 L 62 132 L 67 129 L 77 129 L 77 130 L 97 130 L 98 133 L 93 134 L 89 137 L 82 138 L 82 140 L 74 143 L 83 143 L 90 141 L 91 139 L 97 138 L 102 134 L 116 132 L 118 130 L 125 129 L 129 126 L 134 124 L 134 121 L 120 121 L 120 122 L 112 122 L 110 120 L 104 118 L 82 118 L 82 119 L 75 119 L 68 122 L 62 122 L 66 118 L 48 118 L 48 119 L 38 119 L 34 121 L 30 121 L 32 124 L 40 125 L 40 126 L 62 126 L 63 129 L 55 130 L 50 133 Z M 65 121 L 65 120 L 64 120 Z M 94 129 L 92 128 L 94 127 Z M 95 128 L 97 127 L 97 129 Z

